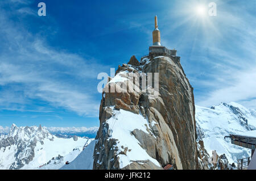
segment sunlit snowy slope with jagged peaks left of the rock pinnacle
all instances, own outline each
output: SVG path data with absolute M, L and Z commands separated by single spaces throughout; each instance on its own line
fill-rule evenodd
M 9 134 L 0 137 L 0 169 L 39 169 L 42 165 L 46 166 L 40 169 L 59 169 L 66 161 L 73 161 L 90 141 L 59 138 L 41 126 L 18 128 L 13 124 Z

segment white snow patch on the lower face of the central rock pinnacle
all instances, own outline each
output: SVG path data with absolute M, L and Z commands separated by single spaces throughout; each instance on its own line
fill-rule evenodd
M 131 134 L 131 132 L 133 132 L 135 129 L 141 130 L 145 133 L 150 131 L 150 129 L 147 129 L 150 128 L 148 125 L 150 123 L 148 123 L 147 119 L 145 119 L 141 114 L 138 115 L 122 109 L 113 110 L 113 116 L 106 120 L 105 124 L 109 125 L 110 137 L 108 140 L 118 140 L 117 144 L 114 145 L 114 148 L 111 149 L 118 150 L 117 155 L 119 157 L 120 169 L 129 165 L 133 161 L 148 160 L 154 163 L 156 166 L 161 167 L 158 161 L 150 157 L 150 155 L 147 154 L 147 151 L 142 148 L 139 141 L 134 137 L 134 135 Z M 119 154 L 125 151 L 126 147 L 129 148 L 126 154 Z M 101 165 L 99 160 L 97 163 Z

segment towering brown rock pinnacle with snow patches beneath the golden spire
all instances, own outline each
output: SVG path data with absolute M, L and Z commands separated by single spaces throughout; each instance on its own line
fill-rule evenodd
M 162 169 L 167 164 L 197 169 L 193 87 L 177 59 L 148 56 L 138 64 L 131 57 L 129 65 L 118 67 L 102 93 L 93 169 Z M 154 83 L 144 88 L 141 81 L 134 85 L 129 73 L 140 80 L 146 74 L 147 83 L 150 73 L 153 80 L 159 73 L 159 90 L 153 89 Z M 127 87 L 119 86 L 123 82 Z M 110 92 L 110 85 L 115 92 Z M 131 87 L 142 91 L 125 91 Z M 122 130 L 127 140 L 119 136 Z M 140 154 L 145 158 L 140 160 Z

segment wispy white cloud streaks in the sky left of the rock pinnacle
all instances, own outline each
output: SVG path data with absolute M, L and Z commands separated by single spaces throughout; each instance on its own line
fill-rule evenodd
M 13 14 L 18 16 L 20 11 L 32 14 L 27 7 Z M 16 28 L 17 23 L 3 9 L 0 26 L 0 109 L 29 110 L 31 100 L 38 99 L 79 115 L 98 115 L 99 102 L 93 93 L 97 86 L 91 82 L 96 82 L 105 66 L 93 57 L 49 47 L 40 33 L 27 31 L 22 23 Z

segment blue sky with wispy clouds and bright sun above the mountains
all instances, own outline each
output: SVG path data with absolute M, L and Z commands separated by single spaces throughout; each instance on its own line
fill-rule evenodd
M 47 16 L 38 16 L 38 3 Z M 217 5 L 217 16 L 207 14 Z M 205 14 L 197 14 L 197 7 Z M 256 109 L 256 0 L 0 2 L 0 125 L 98 126 L 98 73 L 152 44 L 177 49 L 200 106 Z

